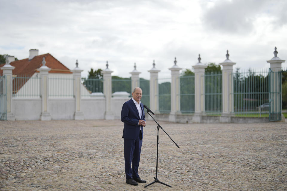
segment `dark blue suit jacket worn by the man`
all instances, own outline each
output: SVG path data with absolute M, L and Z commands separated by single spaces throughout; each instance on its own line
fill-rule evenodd
M 146 121 L 146 117 L 144 115 L 144 105 L 140 103 L 140 106 L 143 112 L 141 116 L 139 116 L 138 109 L 135 106 L 135 103 L 132 99 L 126 101 L 123 104 L 122 113 L 120 117 L 121 121 L 125 123 L 123 126 L 123 138 L 136 139 L 140 134 L 140 127 L 142 134 L 141 137 L 144 138 L 144 127 L 138 125 L 138 120 L 141 119 Z

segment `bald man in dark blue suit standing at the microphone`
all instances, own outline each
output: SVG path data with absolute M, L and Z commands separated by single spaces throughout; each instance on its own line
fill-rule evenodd
M 146 126 L 144 105 L 140 101 L 142 93 L 141 88 L 136 87 L 132 92 L 132 98 L 123 104 L 121 113 L 121 121 L 125 123 L 123 126 L 123 142 L 126 183 L 132 185 L 138 185 L 137 182 L 146 183 L 138 175 L 141 145 L 143 143 L 144 127 Z

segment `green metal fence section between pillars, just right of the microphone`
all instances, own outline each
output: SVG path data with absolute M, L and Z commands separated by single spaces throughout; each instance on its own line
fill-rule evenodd
M 158 81 L 158 110 L 160 113 L 170 113 L 170 84 L 171 78 L 161 78 Z

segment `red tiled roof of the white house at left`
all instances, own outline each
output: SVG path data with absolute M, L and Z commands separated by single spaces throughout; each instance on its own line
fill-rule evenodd
M 54 58 L 51 54 L 42 54 L 39 56 L 35 56 L 33 59 L 28 60 L 28 58 L 23 60 L 17 60 L 10 63 L 11 66 L 14 66 L 15 69 L 12 70 L 13 75 L 27 75 L 32 76 L 35 72 L 38 72 L 36 69 L 41 67 L 43 57 L 45 57 L 46 66 L 51 68 L 49 73 L 64 73 L 71 74 L 72 72 L 65 67 L 64 64 L 59 62 L 56 58 Z M 5 64 L 1 64 L 0 67 Z M 3 73 L 3 70 L 0 69 L 0 74 Z

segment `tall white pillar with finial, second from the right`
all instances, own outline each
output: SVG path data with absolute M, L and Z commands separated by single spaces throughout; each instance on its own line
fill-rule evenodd
M 230 123 L 231 115 L 234 112 L 234 99 L 233 99 L 233 65 L 236 64 L 229 60 L 227 50 L 226 60 L 222 65 L 222 114 L 220 122 Z

